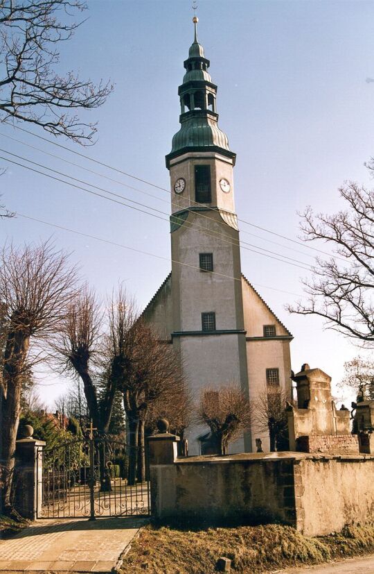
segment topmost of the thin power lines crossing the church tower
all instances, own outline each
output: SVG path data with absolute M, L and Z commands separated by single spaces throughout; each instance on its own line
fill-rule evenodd
M 90 158 L 89 155 L 84 155 L 84 153 L 80 153 L 79 151 L 75 151 L 73 149 L 70 149 L 67 146 L 63 146 L 62 144 L 58 144 L 57 142 L 53 142 L 51 140 L 48 140 L 46 137 L 43 137 L 42 135 L 33 133 L 32 131 L 26 130 L 25 128 L 21 128 L 20 126 L 16 126 L 15 124 L 12 124 L 10 121 L 5 120 L 4 123 L 8 124 L 9 126 L 12 126 L 13 128 L 16 128 L 17 130 L 21 130 L 25 133 L 33 135 L 34 137 L 38 137 L 39 140 L 44 140 L 44 142 L 47 142 L 48 144 L 52 144 L 53 146 L 60 147 L 61 149 L 69 151 L 70 153 L 75 153 L 76 155 L 79 155 L 81 158 L 84 158 L 85 160 L 89 160 L 90 162 L 97 163 L 99 165 L 102 165 L 103 167 L 107 167 L 107 169 L 112 169 L 113 171 L 117 171 L 118 174 L 122 174 L 122 175 L 127 176 L 129 178 L 132 178 L 136 181 L 141 181 L 142 183 L 145 183 L 146 185 L 150 185 L 151 187 L 154 187 L 156 189 L 161 189 L 161 191 L 166 192 L 168 194 L 171 194 L 170 189 L 166 189 L 166 187 L 161 187 L 160 185 L 156 185 L 155 183 L 152 183 L 148 180 L 133 176 L 132 174 L 128 174 L 126 171 L 123 171 L 122 169 L 118 169 L 118 167 L 113 167 L 109 164 L 106 164 L 105 162 L 100 162 L 100 160 Z M 196 205 L 201 205 L 197 201 L 193 201 L 193 200 L 190 200 L 190 201 L 191 201 L 191 203 L 195 203 Z M 212 208 L 208 207 L 208 209 L 212 209 Z M 238 221 L 240 221 L 241 223 L 245 223 L 246 225 L 249 225 L 249 226 L 254 227 L 256 229 L 260 229 L 261 231 L 264 231 L 265 233 L 271 233 L 271 235 L 276 235 L 276 237 L 281 237 L 281 239 L 285 239 L 286 241 L 290 241 L 290 242 L 295 243 L 297 245 L 301 245 L 305 249 L 311 249 L 312 251 L 317 251 L 318 253 L 323 253 L 323 255 L 328 255 L 328 257 L 332 257 L 331 253 L 327 253 L 326 251 L 322 251 L 321 249 L 318 249 L 317 247 L 305 245 L 299 241 L 296 241 L 296 239 L 292 239 L 291 237 L 287 237 L 286 235 L 281 235 L 280 233 L 276 233 L 275 231 L 271 231 L 267 228 L 255 225 L 255 223 L 251 223 L 250 221 L 246 221 L 245 219 L 238 218 Z M 335 257 L 335 259 L 341 259 L 335 255 L 334 255 L 334 257 Z M 341 259 L 341 260 L 343 260 L 343 259 Z

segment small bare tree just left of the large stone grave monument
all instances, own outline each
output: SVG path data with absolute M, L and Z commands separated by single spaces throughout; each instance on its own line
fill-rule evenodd
M 287 395 L 278 385 L 267 385 L 253 402 L 253 425 L 269 434 L 270 451 L 287 450 Z

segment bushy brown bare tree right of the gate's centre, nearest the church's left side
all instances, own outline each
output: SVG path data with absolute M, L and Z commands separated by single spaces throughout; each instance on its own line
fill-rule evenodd
M 109 378 L 123 394 L 130 438 L 129 484 L 145 477 L 144 428 L 150 405 L 167 402 L 170 388 L 178 385 L 181 369 L 170 346 L 139 318 L 134 300 L 120 287 L 109 310 L 106 355 Z M 142 453 L 138 461 L 138 453 Z

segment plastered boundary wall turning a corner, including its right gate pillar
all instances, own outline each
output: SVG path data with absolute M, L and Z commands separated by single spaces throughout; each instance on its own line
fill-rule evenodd
M 244 453 L 179 459 L 176 452 L 172 435 L 151 437 L 152 515 L 166 523 L 281 521 L 318 536 L 345 524 L 373 522 L 373 456 Z

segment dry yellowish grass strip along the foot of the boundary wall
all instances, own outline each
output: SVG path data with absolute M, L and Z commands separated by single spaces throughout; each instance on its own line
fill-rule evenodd
M 233 572 L 255 574 L 373 549 L 374 527 L 346 527 L 340 534 L 308 538 L 275 524 L 192 531 L 148 526 L 132 543 L 121 574 L 213 574 L 221 556 L 233 561 Z

